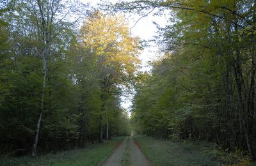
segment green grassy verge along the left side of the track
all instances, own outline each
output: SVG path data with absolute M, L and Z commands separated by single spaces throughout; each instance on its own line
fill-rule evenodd
M 36 158 L 0 156 L 0 165 L 99 165 L 111 155 L 116 144 L 122 140 L 124 137 L 118 137 L 106 140 L 103 144 L 89 144 L 84 149 L 74 149 Z

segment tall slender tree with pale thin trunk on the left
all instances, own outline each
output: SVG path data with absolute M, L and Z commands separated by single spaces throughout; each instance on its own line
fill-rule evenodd
M 41 93 L 41 107 L 39 110 L 38 122 L 36 124 L 35 141 L 33 144 L 32 156 L 35 156 L 38 144 L 38 135 L 40 132 L 40 124 L 42 120 L 42 112 L 44 111 L 45 87 L 47 82 L 47 59 L 50 55 L 50 48 L 54 39 L 61 34 L 61 31 L 72 26 L 74 22 L 67 22 L 68 12 L 63 11 L 64 6 L 60 0 L 54 1 L 26 1 L 21 3 L 22 6 L 29 11 L 29 17 L 34 23 L 36 29 L 36 38 L 39 41 L 38 53 L 42 55 L 43 80 Z M 70 9 L 71 10 L 71 9 Z M 66 13 L 67 12 L 67 13 Z M 58 17 L 56 17 L 58 15 Z

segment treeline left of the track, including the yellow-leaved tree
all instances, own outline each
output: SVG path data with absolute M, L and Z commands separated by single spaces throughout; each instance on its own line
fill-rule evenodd
M 0 34 L 2 154 L 129 134 L 120 94 L 134 81 L 139 47 L 121 15 L 77 1 L 3 1 Z

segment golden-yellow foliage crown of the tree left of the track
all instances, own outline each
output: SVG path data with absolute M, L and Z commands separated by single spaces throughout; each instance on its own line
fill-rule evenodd
M 83 47 L 93 52 L 100 66 L 108 68 L 107 73 L 115 73 L 115 79 L 136 71 L 140 63 L 139 38 L 130 35 L 122 15 L 103 15 L 95 11 L 85 20 L 80 32 Z

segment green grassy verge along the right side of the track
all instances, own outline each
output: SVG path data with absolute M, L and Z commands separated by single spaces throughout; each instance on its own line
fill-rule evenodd
M 172 142 L 152 137 L 136 136 L 141 151 L 153 165 L 228 165 L 236 163 L 214 144 Z

